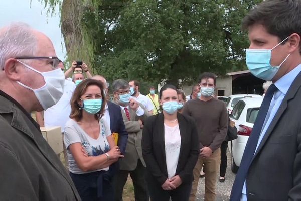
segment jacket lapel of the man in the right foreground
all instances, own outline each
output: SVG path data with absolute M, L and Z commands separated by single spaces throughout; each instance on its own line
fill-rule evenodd
M 284 113 L 284 111 L 287 108 L 287 102 L 289 100 L 291 100 L 292 98 L 294 98 L 294 96 L 296 95 L 297 91 L 299 90 L 301 86 L 301 73 L 299 73 L 297 75 L 297 77 L 294 79 L 294 81 L 292 82 L 291 86 L 289 87 L 286 95 L 284 96 L 284 99 L 282 100 L 281 105 L 279 106 L 278 111 L 275 114 L 275 117 L 273 118 L 273 120 L 271 121 L 268 129 L 266 130 L 264 137 L 262 138 L 262 141 L 260 142 L 258 149 L 256 150 L 253 159 L 257 156 L 257 154 L 260 152 L 260 150 L 262 149 L 262 147 L 264 146 L 265 142 L 267 141 L 267 139 L 269 138 L 269 136 L 271 135 L 274 127 L 277 125 L 278 121 L 280 120 L 282 114 Z

